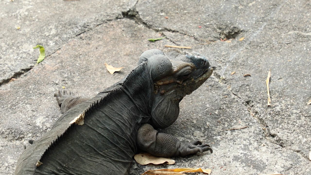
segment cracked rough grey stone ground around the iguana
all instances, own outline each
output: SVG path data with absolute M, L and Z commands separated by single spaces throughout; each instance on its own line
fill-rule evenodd
M 202 140 L 214 152 L 174 158 L 174 165 L 133 161 L 131 175 L 179 167 L 310 175 L 310 21 L 310 0 L 2 0 L 0 174 L 14 174 L 27 140 L 60 116 L 55 91 L 94 96 L 126 76 L 143 51 L 178 45 L 205 55 L 215 71 L 161 132 Z M 47 55 L 39 65 L 36 44 Z M 125 68 L 111 75 L 104 63 Z

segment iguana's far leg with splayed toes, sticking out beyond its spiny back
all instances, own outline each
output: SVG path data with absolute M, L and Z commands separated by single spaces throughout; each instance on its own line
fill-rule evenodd
M 88 100 L 87 98 L 75 96 L 71 91 L 69 91 L 68 94 L 65 89 L 63 91 L 58 90 L 58 93 L 55 93 L 54 97 L 56 97 L 57 103 L 61 107 L 62 114 L 71 109 L 73 106 Z

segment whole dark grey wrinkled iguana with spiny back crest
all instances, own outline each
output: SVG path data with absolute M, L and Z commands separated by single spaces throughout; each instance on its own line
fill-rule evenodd
M 138 64 L 92 99 L 56 93 L 63 116 L 21 154 L 15 174 L 128 174 L 137 148 L 163 157 L 212 152 L 154 129 L 173 124 L 179 102 L 211 75 L 207 59 L 153 49 Z

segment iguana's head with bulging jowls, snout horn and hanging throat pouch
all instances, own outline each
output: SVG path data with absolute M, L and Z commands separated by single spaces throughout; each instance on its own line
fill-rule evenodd
M 163 53 L 147 50 L 139 63 L 147 61 L 150 78 L 154 83 L 151 124 L 166 128 L 179 115 L 179 102 L 191 94 L 209 78 L 213 72 L 208 60 L 198 53 L 182 54 L 178 50 Z

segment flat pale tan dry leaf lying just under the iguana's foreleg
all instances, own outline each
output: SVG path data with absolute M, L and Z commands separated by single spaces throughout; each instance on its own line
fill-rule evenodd
M 167 162 L 167 164 L 171 165 L 175 163 L 175 160 L 172 160 L 170 158 L 163 158 L 163 157 L 157 157 L 154 155 L 151 155 L 149 153 L 140 153 L 140 154 L 136 154 L 134 156 L 134 159 L 136 160 L 137 163 L 141 164 L 141 165 L 146 165 L 149 163 L 153 163 L 153 164 L 162 164 Z

